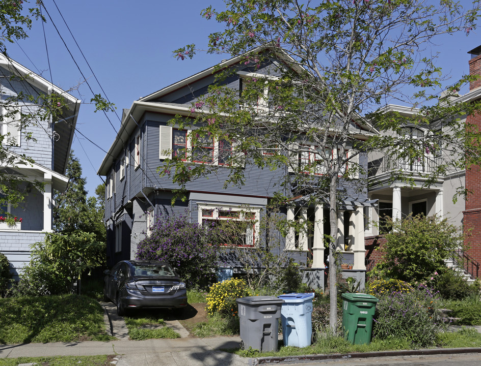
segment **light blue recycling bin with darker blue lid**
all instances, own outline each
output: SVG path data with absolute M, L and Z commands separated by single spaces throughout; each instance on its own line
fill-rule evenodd
M 281 306 L 282 337 L 284 346 L 307 347 L 312 337 L 313 293 L 290 293 L 277 296 Z

